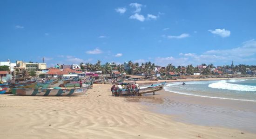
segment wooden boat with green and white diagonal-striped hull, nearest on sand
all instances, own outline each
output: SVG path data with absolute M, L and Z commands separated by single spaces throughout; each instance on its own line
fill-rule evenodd
M 32 89 L 32 88 L 12 88 L 13 95 L 28 96 L 74 96 L 84 95 L 88 87 L 69 89 Z

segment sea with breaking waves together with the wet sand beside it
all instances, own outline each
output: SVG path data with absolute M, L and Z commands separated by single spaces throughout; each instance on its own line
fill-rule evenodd
M 172 82 L 164 86 L 166 91 L 183 95 L 193 95 L 200 98 L 214 99 L 222 102 L 222 105 L 204 105 L 202 103 L 190 103 L 193 97 L 186 97 L 187 101 L 179 101 L 171 95 L 158 95 L 162 98 L 161 103 L 142 101 L 148 105 L 150 110 L 170 114 L 174 120 L 181 122 L 202 125 L 202 126 L 222 126 L 241 129 L 256 133 L 256 79 L 232 79 L 218 81 L 195 81 Z M 148 96 L 150 97 L 150 95 Z M 154 97 L 154 96 L 153 96 Z M 202 98 L 203 99 L 203 98 Z M 230 101 L 232 100 L 232 101 Z M 207 103 L 207 101 L 204 101 Z M 245 107 L 240 108 L 240 104 Z M 226 107 L 231 105 L 232 107 Z M 237 106 L 235 106 L 237 105 Z M 255 105 L 255 106 L 254 106 Z M 247 108 L 248 107 L 248 108 Z M 249 108 L 250 107 L 250 108 Z

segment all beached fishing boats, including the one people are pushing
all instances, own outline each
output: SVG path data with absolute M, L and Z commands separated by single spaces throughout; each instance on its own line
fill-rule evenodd
M 0 84 L 0 94 L 6 94 L 12 92 L 13 95 L 29 95 L 29 96 L 74 96 L 74 95 L 84 95 L 89 88 L 92 88 L 93 83 L 106 83 L 106 80 L 94 80 L 91 77 L 84 77 L 82 79 L 72 78 L 69 80 L 30 80 L 23 82 L 16 82 L 12 84 L 10 82 Z M 82 86 L 80 87 L 80 82 Z M 107 81 L 107 83 L 111 83 Z M 112 82 L 113 83 L 113 82 Z M 117 85 L 128 85 L 133 84 L 135 81 L 126 82 L 115 82 Z M 165 82 L 150 86 L 141 87 L 139 93 L 151 93 L 161 90 Z M 10 91 L 7 91 L 10 90 Z M 118 92 L 119 95 L 128 95 L 128 90 L 122 90 Z

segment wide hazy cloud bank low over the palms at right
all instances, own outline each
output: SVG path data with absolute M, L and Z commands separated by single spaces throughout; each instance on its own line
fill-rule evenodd
M 166 65 L 173 63 L 177 65 L 201 64 L 201 63 L 221 63 L 226 64 L 231 61 L 244 64 L 250 62 L 255 64 L 256 61 L 256 41 L 254 39 L 246 41 L 241 47 L 225 50 L 210 50 L 202 54 L 180 53 L 182 57 L 157 57 L 155 63 Z

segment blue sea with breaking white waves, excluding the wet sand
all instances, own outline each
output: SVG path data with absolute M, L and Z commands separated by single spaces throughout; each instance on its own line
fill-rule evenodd
M 256 101 L 256 79 L 231 79 L 220 81 L 195 81 L 168 83 L 169 92 L 237 101 Z

